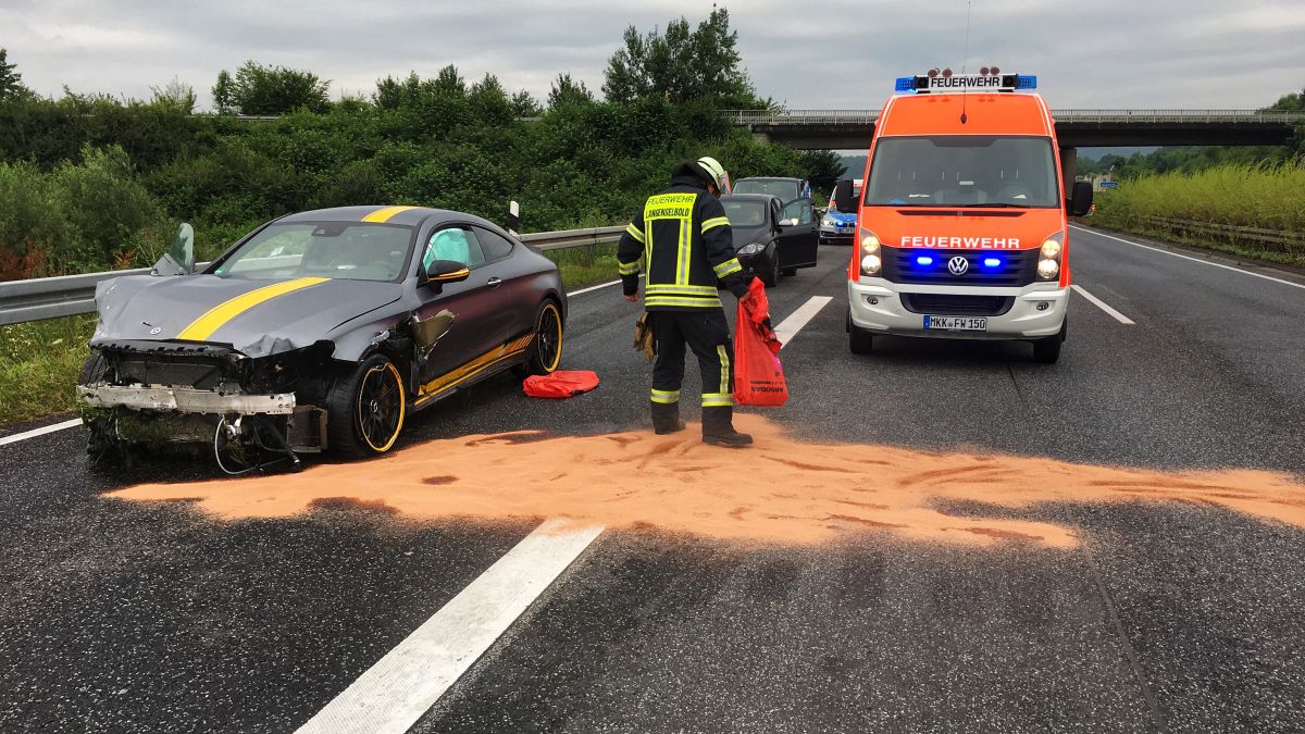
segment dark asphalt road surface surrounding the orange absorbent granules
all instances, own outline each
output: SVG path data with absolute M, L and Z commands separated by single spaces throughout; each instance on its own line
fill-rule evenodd
M 771 293 L 776 321 L 831 296 L 782 354 L 792 398 L 767 415 L 792 435 L 1302 473 L 1302 278 L 1075 229 L 1075 282 L 1114 313 L 1075 294 L 1061 362 L 1041 366 L 1022 343 L 883 338 L 853 357 L 847 251 L 821 256 Z M 572 299 L 564 366 L 596 370 L 594 393 L 530 401 L 500 377 L 418 415 L 402 441 L 646 426 L 636 312 L 615 287 Z M 527 547 L 545 519 L 415 522 L 325 503 L 221 521 L 100 496 L 211 477 L 206 460 L 97 473 L 82 441 L 0 445 L 0 731 L 294 731 L 350 691 L 398 710 L 419 699 L 369 675 L 422 630 L 440 648 L 466 610 L 505 631 L 482 630 L 483 656 L 445 656 L 452 684 L 412 731 L 1305 730 L 1305 530 L 1225 508 L 945 508 L 1073 528 L 1069 550 L 609 528 L 530 579 L 553 552 Z M 748 456 L 728 455 L 740 483 L 757 481 Z M 495 601 L 502 579 L 535 589 L 521 609 Z

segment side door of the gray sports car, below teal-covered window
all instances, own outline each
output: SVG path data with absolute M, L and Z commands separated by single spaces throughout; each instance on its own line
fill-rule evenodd
M 499 294 L 491 282 L 495 268 L 487 266 L 470 225 L 449 225 L 431 232 L 420 266 L 433 260 L 463 263 L 471 274 L 462 282 L 419 289 L 418 375 L 425 393 L 454 387 L 455 379 L 467 376 L 465 368 L 508 338 Z

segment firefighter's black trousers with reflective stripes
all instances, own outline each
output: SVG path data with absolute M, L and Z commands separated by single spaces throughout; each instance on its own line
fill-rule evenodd
M 733 345 L 724 310 L 649 311 L 649 321 L 656 341 L 652 389 L 680 389 L 688 346 L 702 370 L 703 405 L 732 405 L 728 396 L 733 393 Z

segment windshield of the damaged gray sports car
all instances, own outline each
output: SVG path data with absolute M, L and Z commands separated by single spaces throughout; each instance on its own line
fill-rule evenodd
M 393 281 L 403 272 L 412 227 L 363 222 L 269 225 L 231 253 L 214 274 L 274 279 L 316 276 Z

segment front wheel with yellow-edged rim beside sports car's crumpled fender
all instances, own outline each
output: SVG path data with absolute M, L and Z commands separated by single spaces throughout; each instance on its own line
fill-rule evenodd
M 398 367 L 372 354 L 337 377 L 326 396 L 326 443 L 335 456 L 363 458 L 390 451 L 403 431 L 407 391 Z

